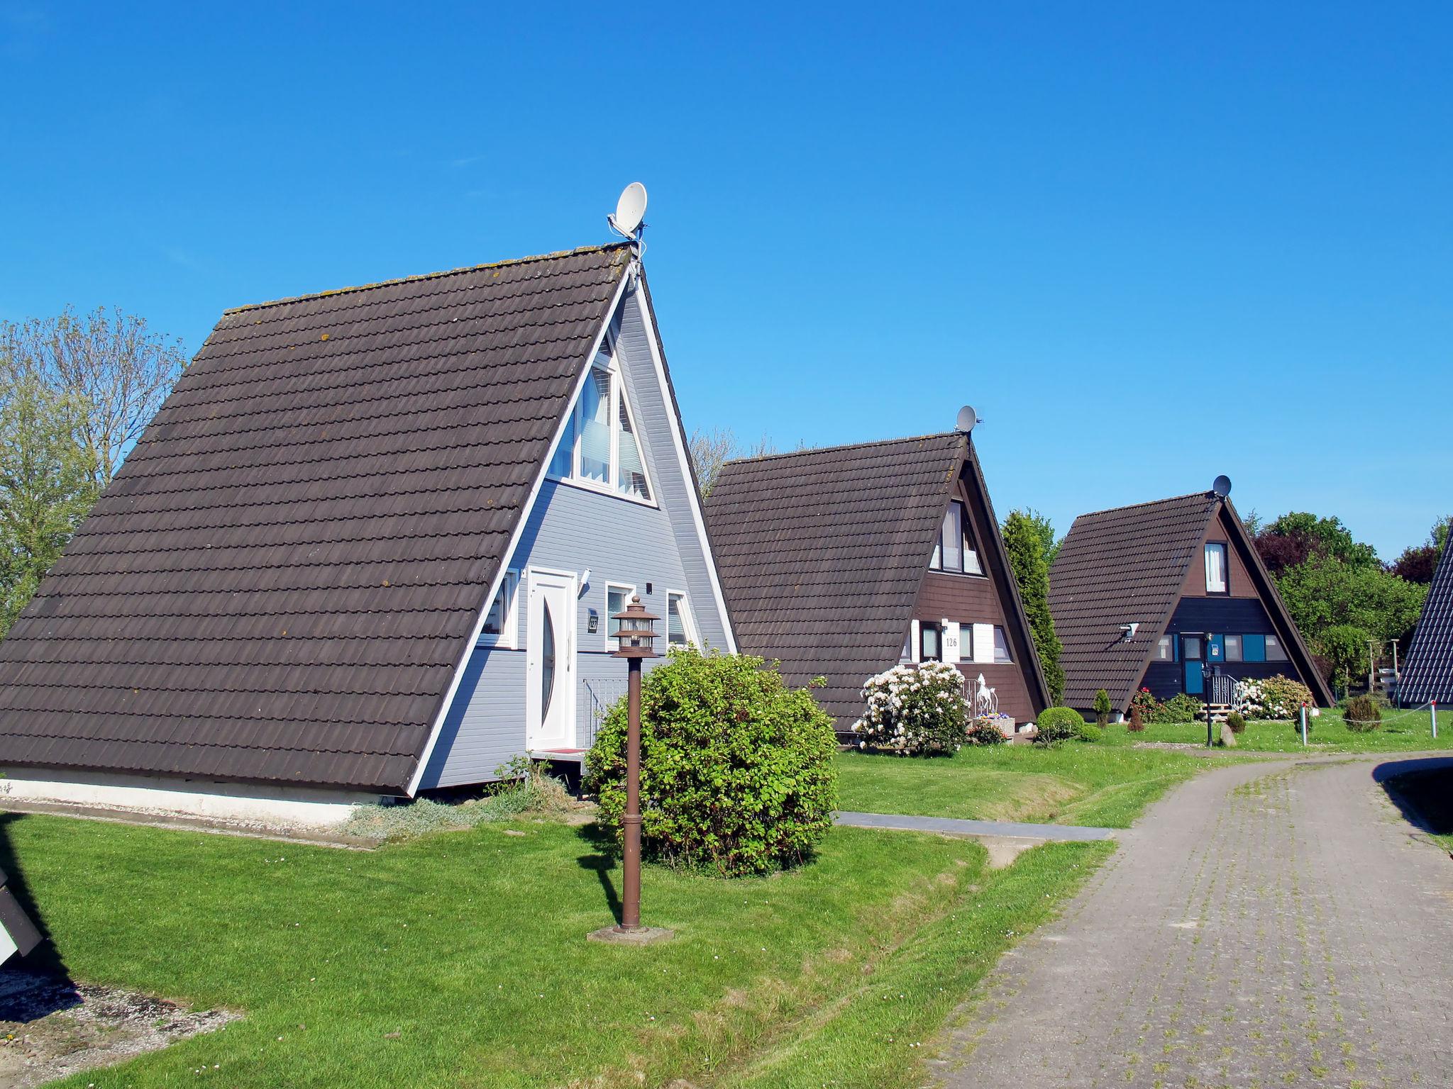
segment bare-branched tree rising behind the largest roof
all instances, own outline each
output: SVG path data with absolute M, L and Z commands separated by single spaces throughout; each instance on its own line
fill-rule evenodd
M 67 306 L 54 318 L 3 322 L 0 356 L 16 378 L 33 378 L 84 405 L 76 415 L 76 440 L 103 488 L 186 366 L 180 340 L 151 333 L 144 318 L 105 308 L 77 315 Z

